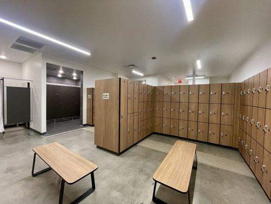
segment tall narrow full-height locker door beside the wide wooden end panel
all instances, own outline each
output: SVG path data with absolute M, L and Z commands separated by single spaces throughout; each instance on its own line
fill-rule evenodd
M 128 80 L 121 78 L 121 119 L 120 119 L 120 151 L 127 148 L 127 107 Z

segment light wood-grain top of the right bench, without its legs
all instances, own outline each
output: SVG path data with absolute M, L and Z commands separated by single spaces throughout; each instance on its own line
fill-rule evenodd
M 153 179 L 182 193 L 188 191 L 196 144 L 176 141 L 155 172 Z

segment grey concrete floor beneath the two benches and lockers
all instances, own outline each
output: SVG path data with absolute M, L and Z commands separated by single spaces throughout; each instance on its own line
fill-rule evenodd
M 42 138 L 29 130 L 7 132 L 0 139 L 0 203 L 58 203 L 60 179 L 48 171 L 31 176 L 35 146 L 58 142 L 99 166 L 96 190 L 81 203 L 152 203 L 152 176 L 175 138 L 152 135 L 121 156 L 94 145 L 93 128 Z M 197 143 L 198 169 L 192 171 L 192 203 L 269 203 L 253 174 L 234 149 Z M 36 170 L 46 168 L 37 158 Z M 90 186 L 90 176 L 66 185 L 64 203 Z M 159 186 L 158 186 L 159 187 Z M 188 203 L 187 194 L 160 186 L 157 197 Z

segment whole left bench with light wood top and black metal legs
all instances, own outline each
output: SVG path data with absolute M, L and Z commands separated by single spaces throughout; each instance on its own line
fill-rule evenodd
M 89 162 L 56 142 L 35 147 L 33 148 L 33 151 L 32 176 L 39 175 L 52 169 L 62 178 L 59 204 L 63 202 L 65 182 L 67 184 L 74 184 L 83 179 L 83 177 L 91 174 L 92 188 L 71 202 L 72 204 L 79 203 L 95 190 L 94 171 L 98 169 L 96 164 Z M 34 173 L 36 155 L 38 155 L 49 168 Z

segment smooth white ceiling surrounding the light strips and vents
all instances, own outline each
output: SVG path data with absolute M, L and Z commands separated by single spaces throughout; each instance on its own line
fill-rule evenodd
M 8 48 L 18 36 L 45 43 L 44 54 L 134 76 L 177 81 L 192 72 L 228 75 L 271 36 L 270 0 L 191 0 L 188 22 L 182 0 L 1 0 L 0 17 L 88 50 L 85 56 L 0 23 L 0 54 L 23 62 L 32 55 Z M 157 60 L 152 60 L 152 57 Z M 175 78 L 176 77 L 176 78 Z

